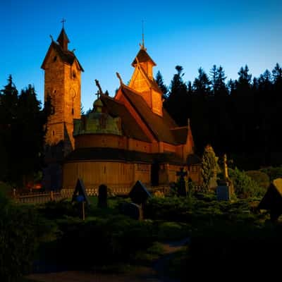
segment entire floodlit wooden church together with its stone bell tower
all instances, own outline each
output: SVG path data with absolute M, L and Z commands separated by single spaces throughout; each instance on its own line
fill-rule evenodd
M 148 186 L 168 185 L 177 180 L 180 167 L 200 180 L 200 168 L 188 168 L 193 137 L 188 123 L 179 127 L 163 107 L 163 93 L 154 81 L 156 63 L 144 42 L 133 59 L 128 85 L 121 80 L 115 97 L 99 88 L 93 110 L 80 115 L 80 62 L 68 50 L 64 28 L 53 39 L 42 68 L 44 97 L 51 97 L 47 123 L 45 170 L 49 188 L 74 188 L 82 178 L 86 188 L 105 184 L 130 188 L 137 181 Z

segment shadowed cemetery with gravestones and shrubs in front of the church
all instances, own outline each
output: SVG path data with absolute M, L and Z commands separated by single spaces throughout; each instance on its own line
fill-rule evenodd
M 164 273 L 157 277 L 185 281 L 203 265 L 229 269 L 239 259 L 247 270 L 250 259 L 257 265 L 274 263 L 260 258 L 281 252 L 281 178 L 251 191 L 255 181 L 228 168 L 228 176 L 219 174 L 215 190 L 198 191 L 189 185 L 186 171 L 177 174 L 178 182 L 166 194 L 150 192 L 138 180 L 128 195 L 112 195 L 102 184 L 97 196 L 89 196 L 78 179 L 72 197 L 61 200 L 20 204 L 2 195 L 0 232 L 10 234 L 5 239 L 18 259 L 11 281 L 56 271 L 120 275 L 139 267 L 154 269 L 159 261 Z M 20 229 L 4 226 L 5 216 Z M 172 242 L 184 243 L 163 263 Z M 1 256 L 7 258 L 9 252 L 4 248 Z M 11 264 L 13 257 L 2 264 L 6 280 L 1 281 L 9 281 Z

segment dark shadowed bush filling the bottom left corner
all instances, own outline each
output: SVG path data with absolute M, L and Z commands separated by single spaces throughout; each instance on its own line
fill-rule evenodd
M 0 195 L 0 281 L 16 281 L 30 271 L 37 247 L 37 214 Z

